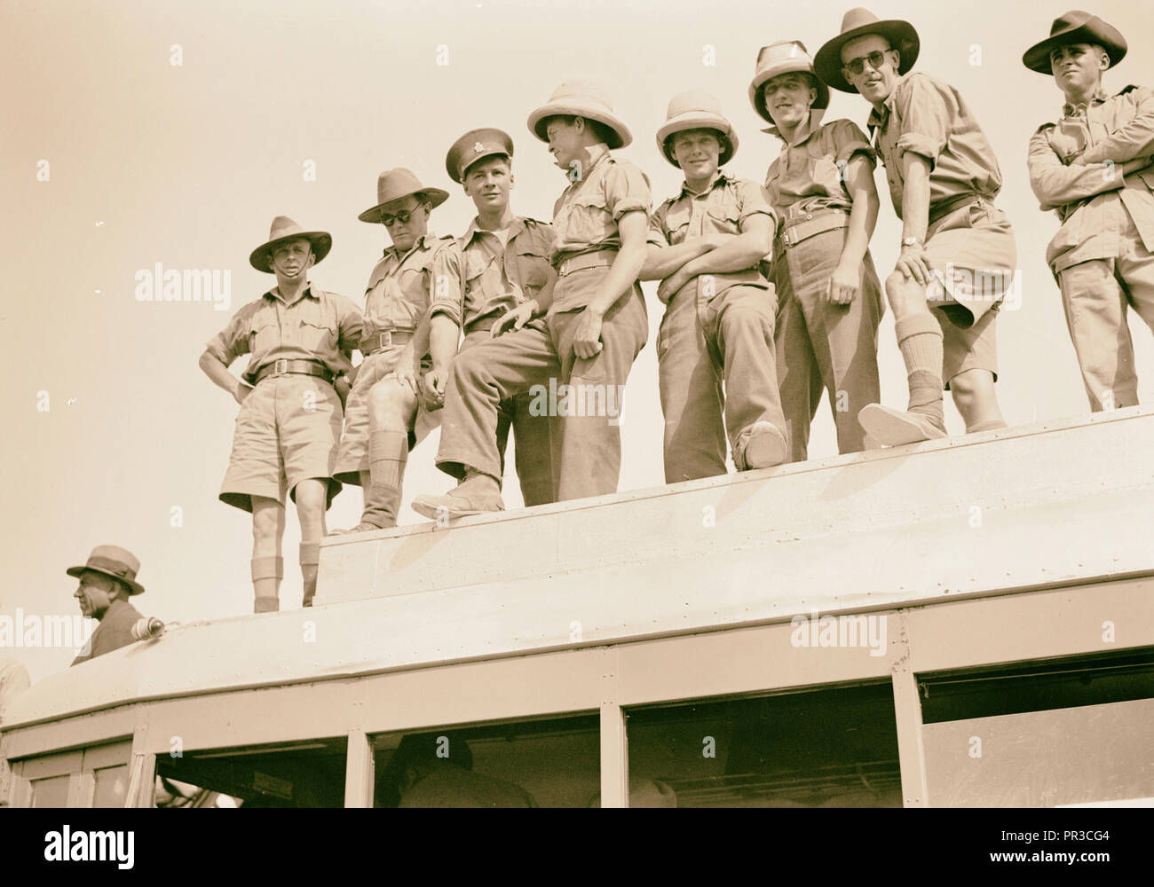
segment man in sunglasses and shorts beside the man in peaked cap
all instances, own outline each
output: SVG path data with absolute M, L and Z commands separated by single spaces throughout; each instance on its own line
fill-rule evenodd
M 377 202 L 358 218 L 382 224 L 392 246 L 373 268 L 365 290 L 365 360 L 355 369 L 334 476 L 365 491 L 360 523 L 336 533 L 397 526 L 409 451 L 440 423 L 418 397 L 428 361 L 433 261 L 452 242 L 429 233 L 429 213 L 449 197 L 409 170 L 377 179 Z

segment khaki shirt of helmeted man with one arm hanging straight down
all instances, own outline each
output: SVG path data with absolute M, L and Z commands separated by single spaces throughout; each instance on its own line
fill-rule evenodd
M 777 127 L 766 131 L 781 138 Z M 856 153 L 869 160 L 871 171 L 877 165 L 865 134 L 849 120 L 807 126 L 799 131 L 765 174 L 765 196 L 778 219 L 786 221 L 826 209 L 849 212 L 853 201 L 846 190 L 844 170 Z

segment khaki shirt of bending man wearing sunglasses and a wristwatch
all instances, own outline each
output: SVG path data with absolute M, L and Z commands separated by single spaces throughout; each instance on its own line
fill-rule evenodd
M 976 194 L 992 201 L 1002 170 L 969 106 L 953 87 L 927 74 L 906 74 L 869 115 L 877 155 L 885 164 L 893 209 L 901 218 L 901 159 L 906 151 L 930 161 L 930 208 Z

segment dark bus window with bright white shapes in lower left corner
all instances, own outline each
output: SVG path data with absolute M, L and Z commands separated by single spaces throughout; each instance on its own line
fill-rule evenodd
M 158 754 L 162 807 L 339 807 L 347 739 Z

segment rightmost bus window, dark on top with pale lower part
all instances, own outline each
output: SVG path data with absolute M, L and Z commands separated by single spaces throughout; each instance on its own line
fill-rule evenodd
M 1154 798 L 1154 651 L 919 677 L 934 806 Z

